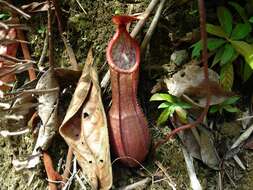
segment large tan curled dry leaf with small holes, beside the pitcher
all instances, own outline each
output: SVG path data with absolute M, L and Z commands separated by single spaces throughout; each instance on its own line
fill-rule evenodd
M 82 76 L 60 126 L 93 189 L 110 189 L 112 170 L 107 120 L 90 50 Z

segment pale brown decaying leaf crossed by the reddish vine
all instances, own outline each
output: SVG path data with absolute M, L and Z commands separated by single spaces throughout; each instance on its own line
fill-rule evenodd
M 187 65 L 171 78 L 164 79 L 170 94 L 180 97 L 181 95 L 190 96 L 199 106 L 205 107 L 206 96 L 210 87 L 211 101 L 210 105 L 216 105 L 223 102 L 228 96 L 232 95 L 226 92 L 219 85 L 219 75 L 212 69 L 208 69 L 209 81 L 205 82 L 203 67 L 198 65 Z

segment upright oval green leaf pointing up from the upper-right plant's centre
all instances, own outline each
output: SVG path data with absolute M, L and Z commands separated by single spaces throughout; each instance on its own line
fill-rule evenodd
M 232 22 L 233 18 L 230 11 L 226 7 L 217 8 L 217 17 L 219 19 L 220 25 L 225 31 L 225 33 L 230 36 L 232 32 Z

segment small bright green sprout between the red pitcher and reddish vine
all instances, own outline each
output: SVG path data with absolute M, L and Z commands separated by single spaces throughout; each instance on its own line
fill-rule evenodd
M 165 123 L 174 113 L 176 113 L 182 123 L 187 123 L 186 109 L 191 108 L 191 105 L 167 93 L 156 93 L 150 98 L 150 101 L 164 101 L 158 106 L 158 109 L 163 109 L 157 119 L 158 125 Z

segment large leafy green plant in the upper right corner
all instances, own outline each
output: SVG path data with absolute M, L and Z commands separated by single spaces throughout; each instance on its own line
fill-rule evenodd
M 252 31 L 250 22 L 253 22 L 253 18 L 248 19 L 244 8 L 238 3 L 229 2 L 229 5 L 236 10 L 240 16 L 239 20 L 233 21 L 229 9 L 221 6 L 217 8 L 220 25 L 206 25 L 207 32 L 215 36 L 208 38 L 208 50 L 214 54 L 211 67 L 219 63 L 221 67 L 220 83 L 226 90 L 232 88 L 234 80 L 232 62 L 239 55 L 244 57 L 246 63 L 241 73 L 244 81 L 251 76 L 253 69 L 253 46 L 249 42 Z M 201 41 L 195 43 L 192 48 L 192 57 L 198 58 L 202 49 Z

